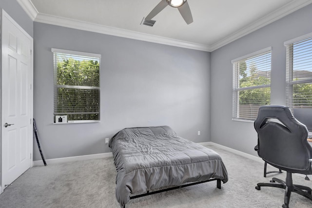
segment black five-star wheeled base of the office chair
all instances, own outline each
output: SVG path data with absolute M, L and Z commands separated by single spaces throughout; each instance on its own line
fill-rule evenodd
M 287 172 L 287 177 L 289 177 L 288 172 Z M 261 187 L 275 187 L 275 188 L 285 189 L 284 204 L 282 205 L 283 208 L 289 208 L 289 201 L 290 201 L 292 192 L 298 193 L 301 196 L 304 196 L 312 201 L 312 189 L 310 187 L 292 184 L 291 173 L 290 173 L 289 180 L 290 182 L 286 183 L 285 181 L 280 180 L 278 178 L 272 178 L 270 183 L 258 183 L 255 189 L 260 190 Z M 287 178 L 286 178 L 286 181 L 288 181 Z

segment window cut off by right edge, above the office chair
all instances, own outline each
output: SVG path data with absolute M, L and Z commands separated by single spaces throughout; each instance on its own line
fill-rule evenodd
M 312 33 L 286 46 L 286 105 L 312 130 Z

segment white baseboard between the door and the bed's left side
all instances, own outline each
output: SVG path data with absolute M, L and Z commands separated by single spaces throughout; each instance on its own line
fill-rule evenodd
M 47 159 L 45 160 L 45 162 L 47 163 L 47 165 L 49 165 L 49 164 L 56 164 L 56 163 L 74 162 L 74 161 L 80 161 L 80 160 L 99 159 L 99 158 L 106 158 L 106 157 L 113 157 L 112 152 Z M 43 166 L 43 165 L 44 164 L 42 160 L 33 161 L 33 166 Z

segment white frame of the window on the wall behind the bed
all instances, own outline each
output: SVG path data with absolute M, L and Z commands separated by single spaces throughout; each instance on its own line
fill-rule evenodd
M 97 120 L 67 120 L 67 122 L 65 123 L 57 123 L 55 121 L 55 117 L 56 116 L 60 116 L 60 115 L 64 115 L 63 114 L 59 114 L 55 112 L 55 98 L 53 99 L 53 105 L 54 105 L 54 110 L 53 110 L 53 117 L 54 117 L 54 124 L 69 124 L 69 123 L 97 123 L 100 122 L 100 59 L 101 59 L 101 55 L 100 54 L 94 54 L 94 53 L 87 53 L 87 52 L 79 52 L 79 51 L 71 51 L 71 50 L 64 50 L 64 49 L 57 49 L 57 48 L 51 48 L 51 52 L 53 53 L 53 70 L 54 70 L 54 92 L 53 95 L 54 97 L 57 96 L 56 95 L 56 89 L 59 88 L 70 88 L 70 89 L 94 89 L 94 90 L 98 90 L 98 119 Z M 56 60 L 55 56 L 56 53 L 60 53 L 60 54 L 65 54 L 68 55 L 68 57 L 70 56 L 81 56 L 81 57 L 88 57 L 88 58 L 95 58 L 98 59 L 98 63 L 99 63 L 99 76 L 98 76 L 98 82 L 99 82 L 99 86 L 98 87 L 94 87 L 94 86 L 76 86 L 76 85 L 57 85 L 57 63 L 58 61 Z M 76 113 L 79 114 L 79 113 Z M 83 114 L 83 112 L 81 112 L 81 114 Z

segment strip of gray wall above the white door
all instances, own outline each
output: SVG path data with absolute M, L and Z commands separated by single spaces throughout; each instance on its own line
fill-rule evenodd
M 33 37 L 33 21 L 20 7 L 16 0 L 0 0 L 0 8 L 4 9 L 31 37 Z

